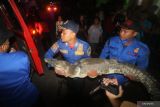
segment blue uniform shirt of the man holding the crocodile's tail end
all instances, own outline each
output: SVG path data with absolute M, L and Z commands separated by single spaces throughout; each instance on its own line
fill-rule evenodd
M 148 46 L 137 39 L 121 40 L 119 36 L 115 36 L 105 43 L 100 58 L 116 59 L 118 62 L 133 64 L 145 70 L 149 63 L 149 53 Z M 123 82 L 123 79 L 119 81 Z

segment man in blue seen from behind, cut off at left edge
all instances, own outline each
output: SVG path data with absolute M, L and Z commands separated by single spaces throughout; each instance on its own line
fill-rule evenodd
M 0 29 L 0 106 L 32 107 L 38 90 L 30 81 L 30 61 L 22 51 L 8 52 L 11 33 Z

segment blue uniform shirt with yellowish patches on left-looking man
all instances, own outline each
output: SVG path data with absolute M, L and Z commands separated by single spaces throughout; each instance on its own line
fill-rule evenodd
M 74 47 L 70 47 L 68 43 L 58 40 L 52 47 L 45 53 L 45 58 L 53 58 L 54 55 L 61 52 L 63 57 L 69 63 L 75 63 L 82 58 L 89 58 L 91 48 L 87 42 L 77 39 Z

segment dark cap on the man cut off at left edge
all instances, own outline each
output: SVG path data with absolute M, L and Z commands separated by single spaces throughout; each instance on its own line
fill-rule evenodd
M 10 39 L 13 36 L 11 32 L 7 29 L 1 28 L 0 29 L 0 45 L 2 45 L 7 39 Z

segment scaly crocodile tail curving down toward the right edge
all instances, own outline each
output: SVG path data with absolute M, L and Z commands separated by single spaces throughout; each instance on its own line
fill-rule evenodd
M 102 74 L 118 73 L 125 76 L 131 76 L 133 81 L 141 82 L 146 87 L 148 93 L 151 95 L 151 98 L 153 100 L 160 100 L 160 88 L 158 87 L 160 85 L 158 85 L 156 79 L 148 72 L 142 71 L 133 65 L 122 64 L 116 61 L 111 61 L 108 64 L 108 70 L 103 71 Z

